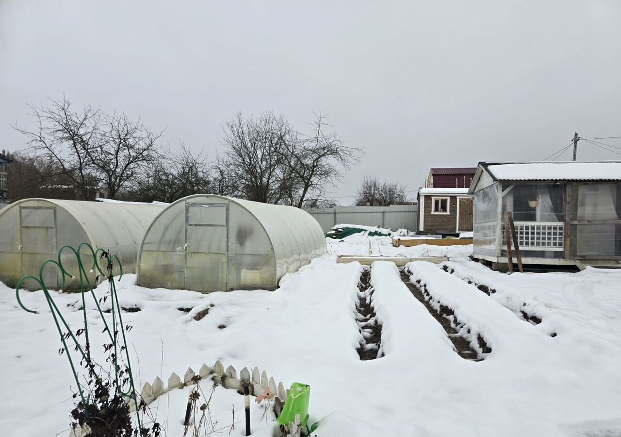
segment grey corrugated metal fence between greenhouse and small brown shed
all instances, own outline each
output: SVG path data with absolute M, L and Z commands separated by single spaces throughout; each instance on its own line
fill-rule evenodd
M 416 230 L 416 205 L 392 206 L 335 206 L 334 208 L 306 208 L 319 222 L 324 232 L 340 223 L 380 226 L 381 228 Z

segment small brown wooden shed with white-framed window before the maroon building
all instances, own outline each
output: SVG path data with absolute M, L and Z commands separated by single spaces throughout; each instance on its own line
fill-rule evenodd
M 420 188 L 420 234 L 456 235 L 473 229 L 473 201 L 468 188 Z

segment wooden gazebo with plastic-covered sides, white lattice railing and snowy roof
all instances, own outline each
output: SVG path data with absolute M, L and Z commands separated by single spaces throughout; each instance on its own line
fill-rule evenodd
M 621 266 L 621 162 L 481 162 L 474 199 L 477 259 L 507 263 L 510 211 L 524 264 Z

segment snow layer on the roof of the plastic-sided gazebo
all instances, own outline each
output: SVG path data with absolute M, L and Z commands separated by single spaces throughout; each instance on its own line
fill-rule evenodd
M 497 180 L 621 180 L 621 161 L 484 162 Z

